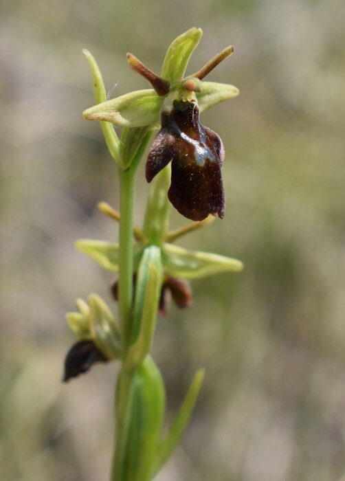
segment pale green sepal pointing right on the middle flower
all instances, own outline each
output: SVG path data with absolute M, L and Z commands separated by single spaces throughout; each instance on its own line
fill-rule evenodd
M 189 251 L 177 245 L 164 244 L 164 272 L 168 276 L 197 279 L 227 271 L 242 271 L 241 260 L 210 252 Z

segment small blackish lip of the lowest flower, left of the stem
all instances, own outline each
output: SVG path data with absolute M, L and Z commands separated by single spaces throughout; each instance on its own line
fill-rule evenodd
M 67 353 L 63 381 L 66 383 L 72 377 L 87 372 L 94 363 L 107 360 L 92 341 L 79 341 Z

